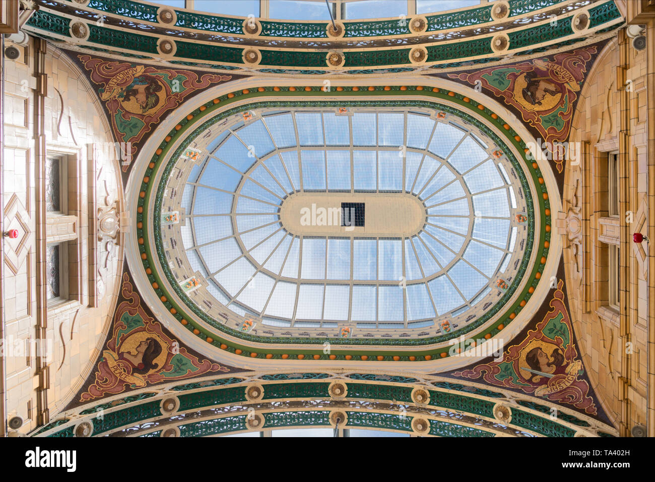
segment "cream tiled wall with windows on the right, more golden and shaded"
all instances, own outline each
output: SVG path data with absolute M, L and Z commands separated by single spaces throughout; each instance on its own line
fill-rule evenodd
M 646 266 L 635 256 L 631 236 L 643 215 L 648 169 L 654 167 L 648 167 L 646 150 L 646 50 L 633 49 L 629 39 L 627 48 L 622 47 L 620 38 L 601 52 L 581 92 L 570 141 L 587 143 L 587 155 L 580 166 L 567 167 L 564 211 L 576 202 L 574 179 L 580 176 L 579 268 L 571 245 L 565 249 L 572 321 L 593 388 L 622 435 L 627 435 L 635 424 L 646 424 L 648 285 Z M 624 63 L 627 70 L 618 69 Z M 627 146 L 620 134 L 620 116 L 626 110 Z M 623 165 L 620 216 L 613 219 L 608 218 L 607 205 L 607 156 L 612 151 L 619 152 Z M 647 229 L 646 223 L 643 230 Z M 620 266 L 625 280 L 620 311 L 607 306 L 608 244 L 627 252 L 627 264 L 624 257 Z

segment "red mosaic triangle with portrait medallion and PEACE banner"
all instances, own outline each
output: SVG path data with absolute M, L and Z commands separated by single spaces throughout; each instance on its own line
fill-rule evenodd
M 130 275 L 124 272 L 111 334 L 95 371 L 71 406 L 145 386 L 230 371 L 235 370 L 196 356 L 172 338 L 147 313 Z

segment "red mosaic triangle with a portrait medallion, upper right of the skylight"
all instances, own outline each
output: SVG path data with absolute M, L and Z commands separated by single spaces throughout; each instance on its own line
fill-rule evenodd
M 545 151 L 561 174 L 567 153 L 553 148 L 553 142 L 565 142 L 569 137 L 578 92 L 599 50 L 591 45 L 507 66 L 449 73 L 447 77 L 502 98 L 535 132 L 539 153 Z

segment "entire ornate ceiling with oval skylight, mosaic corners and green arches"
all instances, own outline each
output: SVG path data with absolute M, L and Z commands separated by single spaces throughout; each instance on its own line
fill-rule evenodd
M 102 356 L 39 434 L 319 427 L 335 411 L 431 435 L 616 434 L 569 317 L 553 223 L 563 161 L 534 155 L 539 136 L 568 137 L 622 22 L 613 1 L 500 2 L 502 22 L 490 5 L 336 36 L 124 0 L 39 3 L 29 29 L 66 49 L 124 143 L 132 216 Z M 341 49 L 336 65 L 325 49 Z M 280 77 L 291 71 L 309 76 Z M 403 76 L 366 77 L 382 72 Z M 551 87 L 530 100 L 536 74 Z M 341 203 L 364 203 L 368 224 L 293 214 Z M 152 356 L 130 362 L 141 343 Z M 565 416 L 551 423 L 553 404 Z M 97 407 L 111 416 L 92 420 Z

